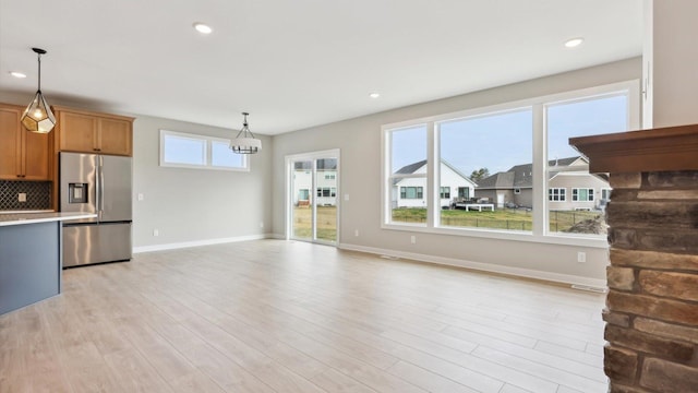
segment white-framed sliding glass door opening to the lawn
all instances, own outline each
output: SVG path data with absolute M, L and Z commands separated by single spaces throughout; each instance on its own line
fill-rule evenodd
M 336 243 L 339 151 L 288 156 L 288 238 Z

